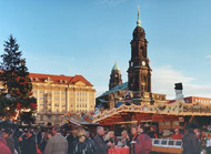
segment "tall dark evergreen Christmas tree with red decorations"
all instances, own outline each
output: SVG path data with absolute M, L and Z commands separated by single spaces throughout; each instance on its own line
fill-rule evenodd
M 0 96 L 0 110 L 2 116 L 16 116 L 21 122 L 33 122 L 33 113 L 37 109 L 37 100 L 32 96 L 32 83 L 29 78 L 26 60 L 21 59 L 17 40 L 10 35 L 4 42 L 4 53 L 1 55 L 0 80 L 4 89 Z M 24 116 L 24 114 L 30 116 Z

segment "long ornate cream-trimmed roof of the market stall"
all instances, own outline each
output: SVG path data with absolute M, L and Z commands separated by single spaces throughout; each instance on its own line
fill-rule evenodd
M 135 114 L 134 114 L 135 113 Z M 177 101 L 171 104 L 158 103 L 154 105 L 124 105 L 103 111 L 93 116 L 93 123 L 117 123 L 127 120 L 175 120 L 178 116 L 198 115 L 211 116 L 211 105 L 203 103 L 184 103 Z

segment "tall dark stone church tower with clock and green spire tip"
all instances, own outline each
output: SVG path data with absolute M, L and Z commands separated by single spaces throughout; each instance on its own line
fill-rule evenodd
M 131 59 L 128 69 L 128 89 L 143 97 L 151 93 L 151 68 L 148 59 L 148 41 L 144 29 L 141 27 L 140 11 L 138 11 L 137 27 L 133 30 L 131 44 Z

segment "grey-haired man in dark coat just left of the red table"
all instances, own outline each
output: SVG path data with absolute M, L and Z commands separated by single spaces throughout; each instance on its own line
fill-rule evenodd
M 108 144 L 104 142 L 103 136 L 104 136 L 104 129 L 102 126 L 98 126 L 97 135 L 93 138 L 97 154 L 108 154 L 109 146 L 112 146 L 111 142 L 109 142 Z

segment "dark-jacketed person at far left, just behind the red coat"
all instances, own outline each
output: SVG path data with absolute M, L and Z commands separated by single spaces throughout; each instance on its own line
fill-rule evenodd
M 2 136 L 6 140 L 7 145 L 11 151 L 11 154 L 13 154 L 14 153 L 14 141 L 12 138 L 12 131 L 11 130 L 4 130 L 2 132 Z

